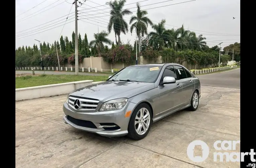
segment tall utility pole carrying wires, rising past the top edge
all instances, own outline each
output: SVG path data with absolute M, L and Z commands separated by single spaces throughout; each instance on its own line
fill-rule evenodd
M 78 75 L 78 31 L 77 31 L 77 1 L 73 2 L 75 4 L 75 75 Z

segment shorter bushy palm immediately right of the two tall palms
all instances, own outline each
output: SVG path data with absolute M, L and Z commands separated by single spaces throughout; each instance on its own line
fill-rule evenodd
M 149 33 L 149 43 L 155 49 L 162 50 L 166 46 L 168 39 L 170 39 L 170 30 L 165 29 L 165 19 L 162 19 L 158 24 L 154 24 L 152 29 L 154 32 Z

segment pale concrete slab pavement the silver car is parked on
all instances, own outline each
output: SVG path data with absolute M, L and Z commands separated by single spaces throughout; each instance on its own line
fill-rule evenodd
M 214 162 L 217 140 L 240 140 L 240 89 L 201 86 L 196 111 L 179 111 L 154 124 L 140 141 L 105 138 L 62 122 L 67 95 L 16 102 L 16 167 L 139 168 L 240 167 L 239 162 Z M 194 140 L 209 146 L 208 158 L 196 163 L 187 156 Z M 234 151 L 240 152 L 240 145 Z M 201 156 L 201 148 L 194 148 Z

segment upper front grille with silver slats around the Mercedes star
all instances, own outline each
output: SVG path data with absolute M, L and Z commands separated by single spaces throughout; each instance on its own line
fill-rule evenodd
M 80 102 L 79 106 L 77 106 L 76 104 L 74 105 L 77 99 Z M 97 99 L 69 96 L 69 107 L 76 111 L 94 111 L 97 108 L 98 104 L 99 100 Z

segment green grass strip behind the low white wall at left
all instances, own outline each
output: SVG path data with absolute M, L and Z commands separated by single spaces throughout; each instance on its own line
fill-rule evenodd
M 39 76 L 21 76 L 16 77 L 15 87 L 24 88 L 32 86 L 50 85 L 57 83 L 66 83 L 82 80 L 93 80 L 93 82 L 107 80 L 108 76 L 83 76 L 83 75 L 39 75 Z

